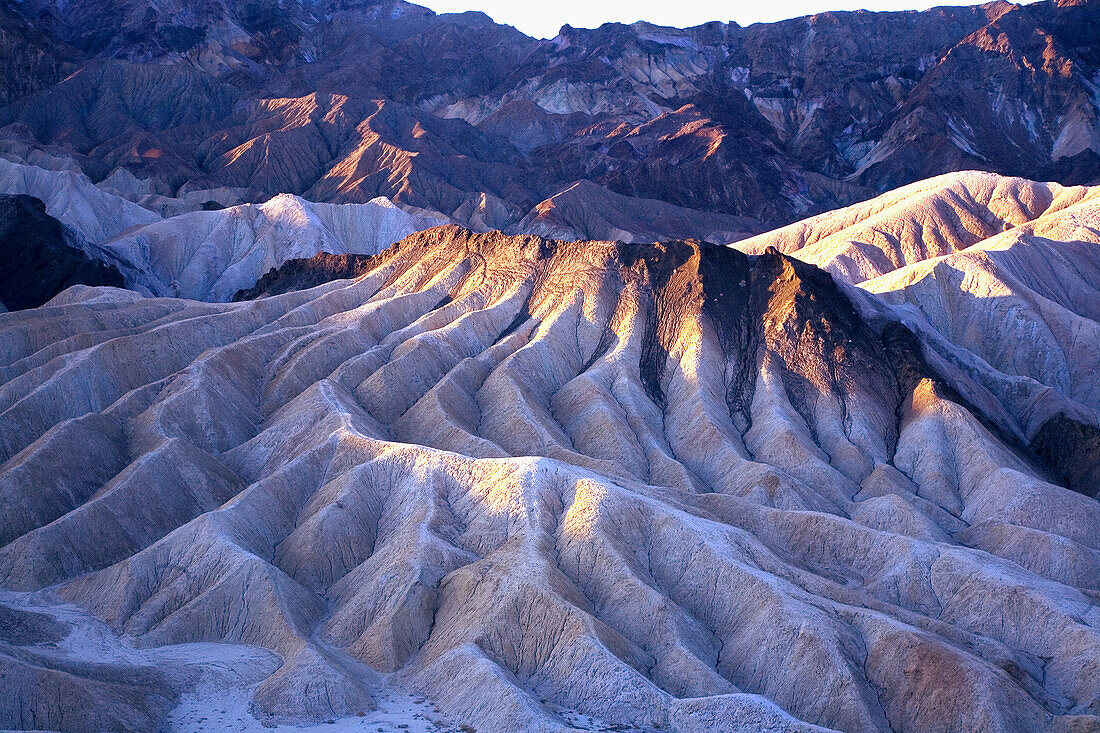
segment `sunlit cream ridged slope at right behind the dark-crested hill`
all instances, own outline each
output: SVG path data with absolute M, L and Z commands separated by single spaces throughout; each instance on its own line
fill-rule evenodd
M 974 383 L 972 398 L 1007 406 L 1018 439 L 1094 452 L 1100 188 L 953 174 L 737 247 L 773 247 L 858 284 L 877 296 L 867 308 L 924 335 Z M 1070 483 L 1096 494 L 1086 475 Z

